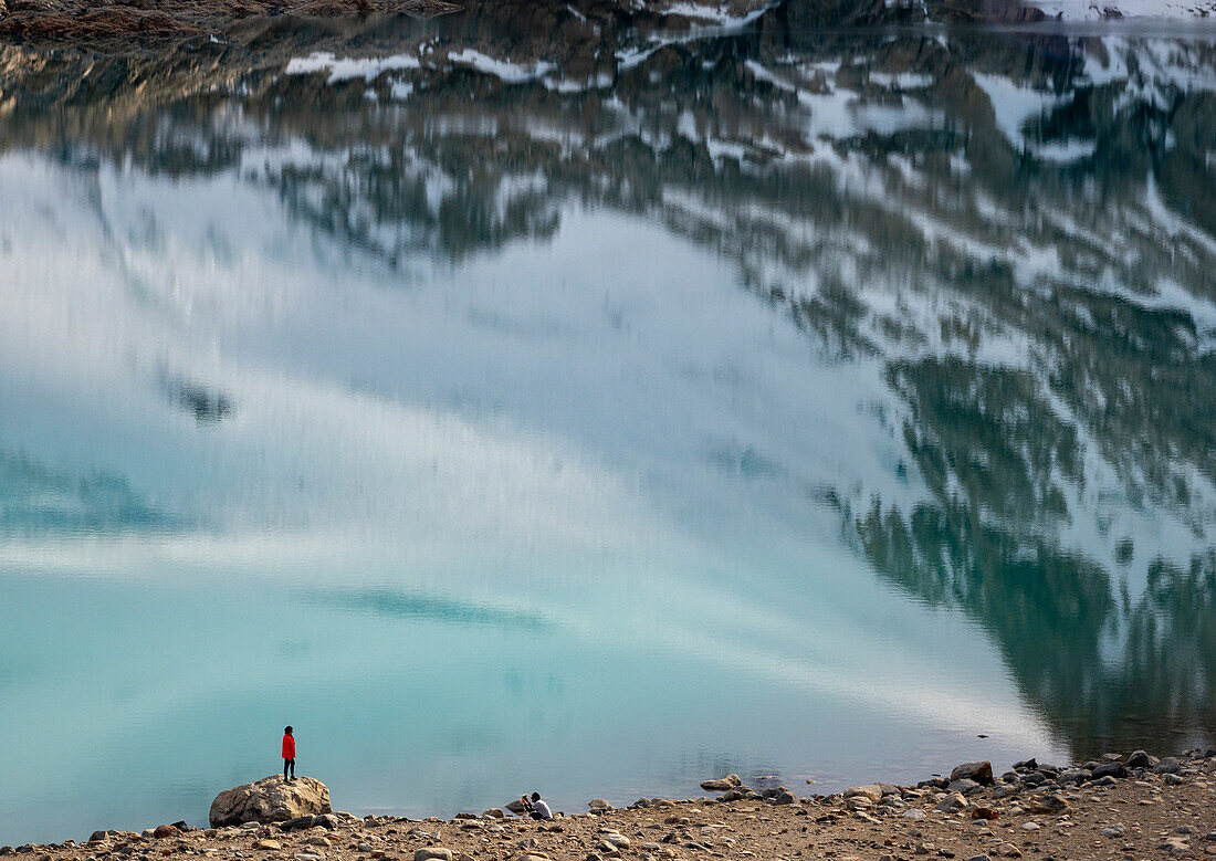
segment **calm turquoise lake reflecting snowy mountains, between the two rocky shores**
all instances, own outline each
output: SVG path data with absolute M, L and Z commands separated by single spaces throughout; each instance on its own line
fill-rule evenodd
M 1216 30 L 795 18 L 0 46 L 0 843 L 1211 738 Z

